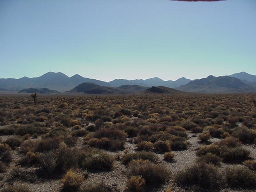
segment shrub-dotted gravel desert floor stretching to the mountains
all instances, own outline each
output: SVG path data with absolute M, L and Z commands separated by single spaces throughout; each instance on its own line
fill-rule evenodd
M 256 94 L 0 96 L 2 192 L 256 190 Z

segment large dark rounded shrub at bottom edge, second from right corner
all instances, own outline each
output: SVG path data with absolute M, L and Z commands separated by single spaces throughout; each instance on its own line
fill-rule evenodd
M 219 170 L 210 164 L 199 163 L 178 172 L 174 181 L 184 187 L 196 187 L 199 191 L 219 190 L 223 186 L 223 177 Z

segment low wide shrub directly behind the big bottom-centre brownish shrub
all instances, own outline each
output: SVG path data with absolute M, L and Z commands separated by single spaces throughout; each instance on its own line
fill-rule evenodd
M 122 164 L 128 164 L 131 160 L 138 160 L 138 159 L 150 160 L 154 162 L 157 160 L 157 156 L 152 152 L 145 152 L 145 151 L 128 153 L 122 156 Z

